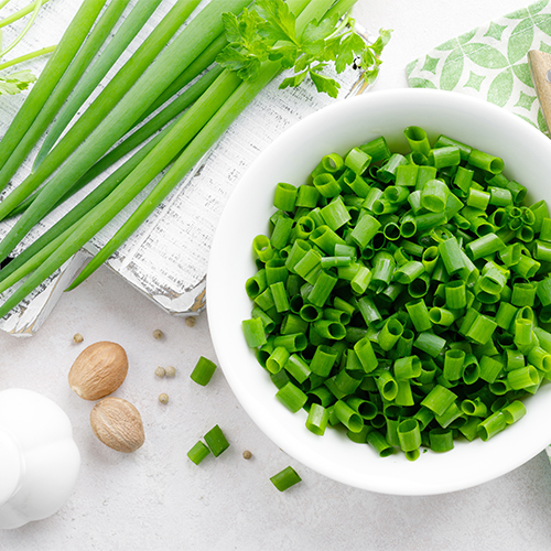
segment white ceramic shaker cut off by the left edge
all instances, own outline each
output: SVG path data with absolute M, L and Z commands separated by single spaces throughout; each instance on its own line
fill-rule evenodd
M 79 467 L 71 421 L 55 402 L 32 390 L 0 391 L 0 528 L 57 511 Z

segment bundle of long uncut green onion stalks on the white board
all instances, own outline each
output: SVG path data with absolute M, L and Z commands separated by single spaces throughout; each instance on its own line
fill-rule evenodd
M 106 0 L 84 0 L 0 141 L 0 188 L 3 188 L 47 131 L 32 173 L 0 203 L 0 219 L 20 215 L 0 241 L 0 260 L 7 259 L 56 206 L 136 150 L 85 199 L 0 270 L 0 292 L 26 277 L 0 306 L 0 317 L 166 170 L 72 288 L 133 234 L 256 95 L 283 66 L 292 66 L 289 58 L 283 60 L 280 52 L 276 52 L 282 41 L 294 42 L 292 52 L 289 47 L 285 50 L 285 55 L 294 56 L 294 61 L 302 55 L 301 41 L 306 40 L 316 41 L 317 45 L 323 45 L 324 40 L 337 40 L 337 45 L 343 46 L 343 57 L 352 56 L 349 63 L 358 50 L 357 42 L 350 41 L 347 34 L 334 34 L 338 18 L 355 0 L 289 0 L 288 3 L 259 0 L 256 9 L 267 19 L 252 9 L 246 10 L 248 0 L 212 0 L 198 13 L 195 11 L 199 0 L 177 0 L 87 109 L 67 126 L 160 2 L 138 0 L 108 39 L 129 0 L 111 0 L 107 7 Z M 194 17 L 181 30 L 192 13 Z M 257 33 L 266 41 L 262 56 L 245 55 L 240 44 L 234 44 L 229 54 L 223 56 L 223 67 L 214 62 L 231 46 L 228 46 L 225 23 L 227 26 L 229 21 L 238 29 L 248 29 L 245 24 L 239 26 L 239 13 L 262 26 L 263 31 Z M 304 30 L 307 33 L 303 33 Z M 235 32 L 229 34 L 231 40 L 237 40 Z M 259 51 L 257 46 L 256 50 Z M 331 50 L 334 51 L 335 47 Z M 323 56 L 331 53 L 323 48 L 320 52 Z M 241 57 L 255 66 L 246 80 L 236 63 L 236 58 Z M 309 67 L 312 62 L 309 58 Z M 309 71 L 316 75 L 318 72 L 316 67 Z M 325 80 L 320 78 L 323 84 Z

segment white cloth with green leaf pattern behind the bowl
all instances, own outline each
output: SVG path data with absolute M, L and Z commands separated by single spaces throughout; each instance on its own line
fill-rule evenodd
M 491 21 L 411 62 L 409 85 L 482 97 L 549 134 L 528 67 L 529 50 L 551 53 L 551 0 Z

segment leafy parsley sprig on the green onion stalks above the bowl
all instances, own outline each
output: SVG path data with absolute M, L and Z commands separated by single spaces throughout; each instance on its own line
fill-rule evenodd
M 380 54 L 390 40 L 390 31 L 381 30 L 368 44 L 355 30 L 354 20 L 338 23 L 336 17 L 313 21 L 296 34 L 296 18 L 283 0 L 258 0 L 239 17 L 224 14 L 229 44 L 218 55 L 223 67 L 236 71 L 244 80 L 255 79 L 266 61 L 280 61 L 294 74 L 283 79 L 280 88 L 296 87 L 310 77 L 317 91 L 336 97 L 341 85 L 322 74 L 333 63 L 342 73 L 348 66 L 360 68 L 371 84 L 381 64 Z

